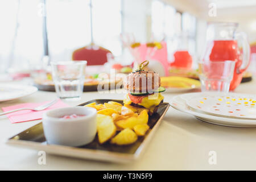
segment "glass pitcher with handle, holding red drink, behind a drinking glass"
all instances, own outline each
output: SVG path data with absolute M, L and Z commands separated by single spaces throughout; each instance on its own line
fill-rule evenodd
M 229 90 L 234 90 L 240 84 L 242 73 L 250 61 L 250 46 L 246 35 L 236 32 L 237 27 L 237 23 L 209 23 L 207 47 L 203 57 L 203 61 L 236 61 Z M 238 47 L 237 40 L 241 40 L 242 50 Z

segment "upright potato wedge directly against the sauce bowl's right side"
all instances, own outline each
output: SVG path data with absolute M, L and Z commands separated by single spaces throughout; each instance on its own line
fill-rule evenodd
M 97 132 L 98 141 L 105 143 L 115 135 L 117 127 L 115 127 L 112 117 L 104 114 L 97 114 Z

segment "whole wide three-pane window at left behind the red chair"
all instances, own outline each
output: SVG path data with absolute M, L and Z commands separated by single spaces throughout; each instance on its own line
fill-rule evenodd
M 52 60 L 71 60 L 72 52 L 92 39 L 115 56 L 121 55 L 122 0 L 45 1 L 46 12 L 42 0 L 0 1 L 0 72 L 42 63 L 45 15 Z

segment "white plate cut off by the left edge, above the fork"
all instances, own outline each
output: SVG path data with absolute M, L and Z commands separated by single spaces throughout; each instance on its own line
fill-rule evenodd
M 38 88 L 35 86 L 0 84 L 0 102 L 28 96 L 36 91 L 38 91 Z

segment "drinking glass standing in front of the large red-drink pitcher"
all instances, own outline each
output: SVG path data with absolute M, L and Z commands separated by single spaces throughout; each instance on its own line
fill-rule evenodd
M 236 61 L 201 61 L 199 63 L 199 78 L 201 90 L 229 92 Z

